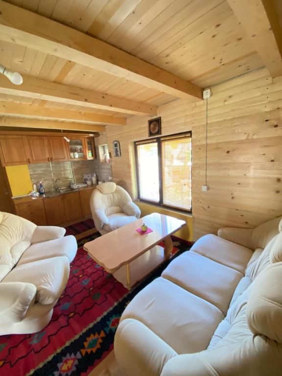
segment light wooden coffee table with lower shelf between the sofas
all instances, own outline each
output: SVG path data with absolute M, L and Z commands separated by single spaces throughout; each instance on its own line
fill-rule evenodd
M 152 233 L 140 235 L 136 229 L 145 223 Z M 130 289 L 135 283 L 169 258 L 170 235 L 186 225 L 168 215 L 152 213 L 109 234 L 85 243 L 83 248 L 107 272 Z M 164 248 L 158 244 L 164 241 Z

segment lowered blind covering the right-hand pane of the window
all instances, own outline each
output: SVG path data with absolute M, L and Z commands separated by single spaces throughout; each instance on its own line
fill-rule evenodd
M 191 210 L 191 136 L 161 138 L 163 205 Z

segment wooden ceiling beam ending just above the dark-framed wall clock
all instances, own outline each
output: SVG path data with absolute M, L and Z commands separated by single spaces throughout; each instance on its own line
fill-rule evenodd
M 0 74 L 0 93 L 20 95 L 28 98 L 50 100 L 96 108 L 100 110 L 116 111 L 132 115 L 157 115 L 157 107 L 135 100 L 118 98 L 113 95 L 93 92 L 69 85 L 57 84 L 35 77 L 23 76 L 22 85 L 14 85 L 7 77 Z

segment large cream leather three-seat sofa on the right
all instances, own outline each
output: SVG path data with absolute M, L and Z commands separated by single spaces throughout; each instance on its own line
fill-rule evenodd
M 281 231 L 221 229 L 175 258 L 122 314 L 124 376 L 282 375 Z

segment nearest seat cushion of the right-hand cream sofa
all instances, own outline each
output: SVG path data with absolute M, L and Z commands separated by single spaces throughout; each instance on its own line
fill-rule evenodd
M 129 318 L 141 321 L 183 354 L 206 349 L 223 314 L 211 303 L 160 277 L 125 308 L 121 320 Z

